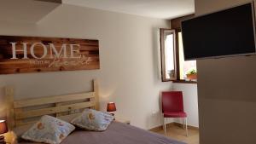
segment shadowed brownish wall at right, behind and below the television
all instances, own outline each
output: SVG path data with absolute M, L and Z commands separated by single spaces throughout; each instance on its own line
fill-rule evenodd
M 195 0 L 195 14 L 246 1 Z M 201 144 L 256 143 L 255 65 L 256 56 L 197 60 Z

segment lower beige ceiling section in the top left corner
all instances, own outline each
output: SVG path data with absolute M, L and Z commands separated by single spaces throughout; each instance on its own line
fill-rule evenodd
M 36 23 L 61 3 L 57 0 L 1 0 L 0 17 L 3 21 Z

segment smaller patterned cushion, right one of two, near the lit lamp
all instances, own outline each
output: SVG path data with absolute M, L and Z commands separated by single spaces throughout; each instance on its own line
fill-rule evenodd
M 73 118 L 71 123 L 85 130 L 103 131 L 112 121 L 113 116 L 107 112 L 85 109 L 79 117 Z

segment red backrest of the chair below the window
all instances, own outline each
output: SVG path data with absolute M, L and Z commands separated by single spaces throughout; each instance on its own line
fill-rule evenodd
M 184 112 L 182 91 L 162 92 L 162 112 Z

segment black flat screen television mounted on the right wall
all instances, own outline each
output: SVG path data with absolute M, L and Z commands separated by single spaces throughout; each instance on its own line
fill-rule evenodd
M 183 20 L 184 59 L 254 55 L 254 34 L 253 3 Z

